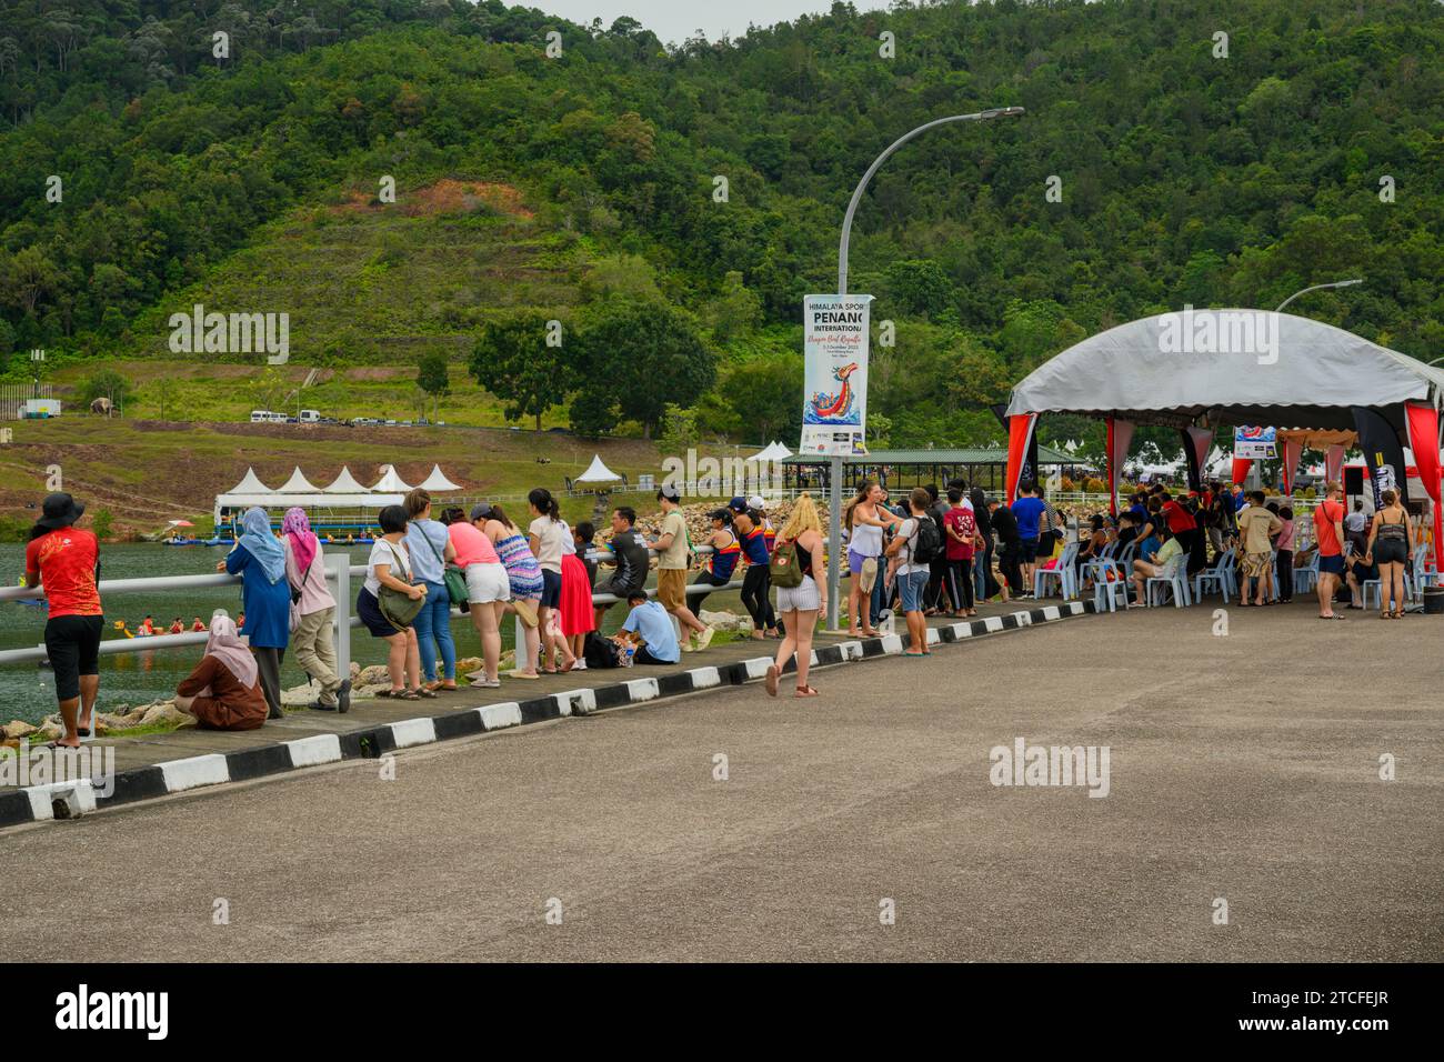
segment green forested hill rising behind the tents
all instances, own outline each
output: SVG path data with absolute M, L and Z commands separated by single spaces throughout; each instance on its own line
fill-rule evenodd
M 654 301 L 684 311 L 716 366 L 705 393 L 666 397 L 702 431 L 780 433 L 800 299 L 835 283 L 858 176 L 928 118 L 1021 104 L 1021 120 L 907 146 L 859 211 L 852 288 L 898 322 L 871 397 L 892 444 L 986 438 L 988 402 L 1099 328 L 1186 302 L 1272 306 L 1344 276 L 1366 285 L 1291 309 L 1432 358 L 1441 45 L 1431 0 L 835 4 L 670 52 L 631 20 L 464 0 L 0 0 L 0 357 L 16 351 L 17 371 L 36 345 L 62 364 L 150 354 L 191 301 L 277 286 L 300 364 L 430 340 L 462 358 L 517 309 L 585 331 Z M 380 210 L 384 175 L 390 246 L 348 250 L 355 218 L 336 208 Z M 406 212 L 440 182 L 516 188 L 531 217 Z M 516 270 L 420 254 L 468 225 Z M 357 277 L 386 296 L 360 298 Z M 567 351 L 580 370 L 593 354 Z

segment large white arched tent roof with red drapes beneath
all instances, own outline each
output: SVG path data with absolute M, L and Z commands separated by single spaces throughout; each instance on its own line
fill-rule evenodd
M 1200 345 L 1235 353 L 1180 353 Z M 1214 412 L 1233 423 L 1353 428 L 1350 406 L 1430 402 L 1440 390 L 1444 371 L 1341 328 L 1210 309 L 1131 321 L 1069 347 L 1014 387 L 1008 415 L 1118 413 L 1147 423 L 1149 413 Z

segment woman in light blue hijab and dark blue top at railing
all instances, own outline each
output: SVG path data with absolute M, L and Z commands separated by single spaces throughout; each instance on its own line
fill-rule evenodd
M 286 551 L 271 532 L 264 509 L 253 506 L 245 510 L 241 538 L 235 549 L 215 565 L 215 571 L 240 575 L 243 579 L 241 611 L 245 614 L 245 626 L 241 627 L 241 634 L 256 656 L 270 718 L 279 720 L 280 665 L 290 642 L 290 582 L 286 579 Z

